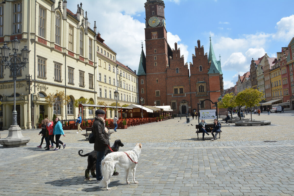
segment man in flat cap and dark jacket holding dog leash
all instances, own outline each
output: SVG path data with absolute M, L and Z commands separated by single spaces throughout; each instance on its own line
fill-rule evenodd
M 95 111 L 95 120 L 92 126 L 92 133 L 95 137 L 94 150 L 97 151 L 96 160 L 96 182 L 99 183 L 103 179 L 101 173 L 101 161 L 104 159 L 105 150 L 108 149 L 109 138 L 108 133 L 105 132 L 105 112 L 103 110 Z M 107 146 L 108 145 L 108 146 Z

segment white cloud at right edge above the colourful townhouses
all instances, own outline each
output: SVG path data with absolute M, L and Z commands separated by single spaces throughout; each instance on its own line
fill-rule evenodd
M 277 32 L 273 35 L 275 39 L 291 40 L 294 31 L 294 15 L 284 17 L 275 26 Z

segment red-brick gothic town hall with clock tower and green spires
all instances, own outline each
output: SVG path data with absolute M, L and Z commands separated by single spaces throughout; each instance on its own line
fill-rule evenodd
M 146 57 L 142 45 L 137 74 L 139 98 L 143 98 L 143 105 L 171 105 L 174 113 L 191 113 L 197 109 L 199 101 L 216 102 L 223 94 L 220 61 L 216 60 L 211 40 L 209 55 L 204 54 L 204 47 L 198 40 L 193 63 L 185 64 L 177 43 L 174 49 L 167 43 L 164 8 L 161 0 L 145 3 Z M 201 108 L 211 109 L 213 105 L 205 101 Z

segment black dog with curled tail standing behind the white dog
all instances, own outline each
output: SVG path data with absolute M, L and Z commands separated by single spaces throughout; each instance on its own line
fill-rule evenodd
M 124 146 L 121 140 L 115 140 L 111 149 L 113 150 L 113 152 L 116 152 L 119 150 L 120 146 L 121 147 Z M 106 150 L 105 156 L 111 152 L 112 151 L 110 149 Z M 93 177 L 96 177 L 95 170 L 96 170 L 97 151 L 93 150 L 91 153 L 87 153 L 85 155 L 82 155 L 81 153 L 83 153 L 83 150 L 79 150 L 78 154 L 80 156 L 82 157 L 88 156 L 88 166 L 87 166 L 87 169 L 85 170 L 85 177 L 86 177 L 86 180 L 90 180 L 90 171 L 91 171 L 91 175 Z M 114 171 L 113 175 L 118 175 L 118 172 Z

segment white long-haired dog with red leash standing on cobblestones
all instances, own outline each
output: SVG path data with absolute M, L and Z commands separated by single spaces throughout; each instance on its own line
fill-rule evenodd
M 110 177 L 113 174 L 115 165 L 125 169 L 127 184 L 130 183 L 128 181 L 128 173 L 130 169 L 132 170 L 134 183 L 138 183 L 135 181 L 135 172 L 141 148 L 142 144 L 137 143 L 133 150 L 128 150 L 126 152 L 113 152 L 106 155 L 106 157 L 101 161 L 101 173 L 103 180 L 100 181 L 99 187 L 106 187 L 107 190 L 110 190 L 110 188 L 108 188 L 108 184 L 110 183 Z

